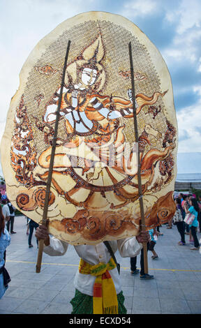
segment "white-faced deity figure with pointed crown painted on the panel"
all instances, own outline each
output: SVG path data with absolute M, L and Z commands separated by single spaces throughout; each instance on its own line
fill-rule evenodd
M 54 167 L 71 167 L 73 162 L 70 157 L 76 159 L 79 167 L 78 161 L 83 158 L 82 174 L 90 171 L 86 175 L 87 181 L 98 179 L 103 167 L 108 165 L 112 152 L 115 158 L 110 166 L 114 170 L 123 174 L 137 173 L 137 148 L 131 148 L 126 156 L 125 126 L 119 121 L 120 117 L 133 117 L 132 92 L 131 89 L 128 90 L 128 99 L 101 95 L 106 77 L 105 68 L 101 64 L 104 56 L 100 34 L 94 43 L 68 65 L 61 101 L 60 116 L 65 119 L 67 137 L 59 146 Z M 46 105 L 44 121 L 49 124 L 54 124 L 56 119 L 59 91 L 60 87 Z M 137 114 L 144 105 L 154 104 L 159 96 L 164 95 L 165 92 L 155 92 L 151 97 L 137 94 Z M 144 131 L 158 134 L 149 124 L 144 126 Z M 49 166 L 50 151 L 51 147 L 40 156 L 39 163 L 42 167 Z

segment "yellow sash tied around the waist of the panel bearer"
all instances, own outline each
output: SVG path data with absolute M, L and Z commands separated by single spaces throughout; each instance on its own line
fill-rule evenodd
M 112 258 L 107 264 L 100 262 L 96 265 L 91 265 L 82 258 L 80 259 L 80 274 L 96 276 L 93 292 L 94 314 L 118 314 L 117 293 L 109 272 L 115 267 L 116 264 Z

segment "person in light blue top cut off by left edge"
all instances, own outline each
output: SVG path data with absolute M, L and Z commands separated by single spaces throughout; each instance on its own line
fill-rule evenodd
M 6 248 L 10 245 L 10 235 L 5 228 L 5 218 L 0 206 L 0 299 L 8 289 L 10 276 L 5 268 Z

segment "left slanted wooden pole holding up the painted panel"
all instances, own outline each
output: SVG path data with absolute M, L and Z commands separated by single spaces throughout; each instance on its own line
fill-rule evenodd
M 52 170 L 53 170 L 53 165 L 54 165 L 54 154 L 55 154 L 55 149 L 57 145 L 57 131 L 58 131 L 58 126 L 59 126 L 59 114 L 60 114 L 60 109 L 61 109 L 61 100 L 62 100 L 62 94 L 63 94 L 63 89 L 64 89 L 64 80 L 65 80 L 65 74 L 66 74 L 66 66 L 67 66 L 67 61 L 68 61 L 68 52 L 70 49 L 70 40 L 68 41 L 68 46 L 66 50 L 66 57 L 64 60 L 64 68 L 63 68 L 63 75 L 62 75 L 62 80 L 61 80 L 61 89 L 60 89 L 60 94 L 59 94 L 59 103 L 57 106 L 57 115 L 56 115 L 56 121 L 55 121 L 55 126 L 54 126 L 54 136 L 53 136 L 53 142 L 52 142 L 52 152 L 51 152 L 51 157 L 50 157 L 50 167 L 49 167 L 49 172 L 48 172 L 48 177 L 47 177 L 47 186 L 45 190 L 45 203 L 44 203 L 44 209 L 43 209 L 43 219 L 42 219 L 42 224 L 43 225 L 48 225 L 48 219 L 47 219 L 47 211 L 48 211 L 48 203 L 50 199 L 50 187 L 51 187 L 51 181 L 52 181 Z M 41 239 L 38 243 L 38 259 L 36 263 L 36 273 L 40 273 L 40 267 L 41 267 L 41 262 L 42 262 L 42 257 L 43 257 L 43 244 L 44 241 Z

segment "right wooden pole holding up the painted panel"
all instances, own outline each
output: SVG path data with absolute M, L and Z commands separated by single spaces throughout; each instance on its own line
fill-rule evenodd
M 133 98 L 133 119 L 134 119 L 134 129 L 135 129 L 135 142 L 138 146 L 138 129 L 137 129 L 137 114 L 135 106 L 135 81 L 134 81 L 134 70 L 133 70 L 133 57 L 132 57 L 132 47 L 131 42 L 128 45 L 130 65 L 131 65 L 131 86 L 132 86 L 132 98 Z M 140 165 L 140 150 L 138 147 L 137 150 L 137 181 L 138 181 L 138 194 L 140 202 L 140 216 L 141 216 L 141 225 L 140 228 L 142 231 L 145 231 L 145 218 L 144 218 L 144 205 L 142 200 L 142 180 L 141 180 L 141 165 Z M 143 243 L 143 252 L 144 252 L 144 273 L 148 274 L 148 260 L 147 260 L 147 243 Z

